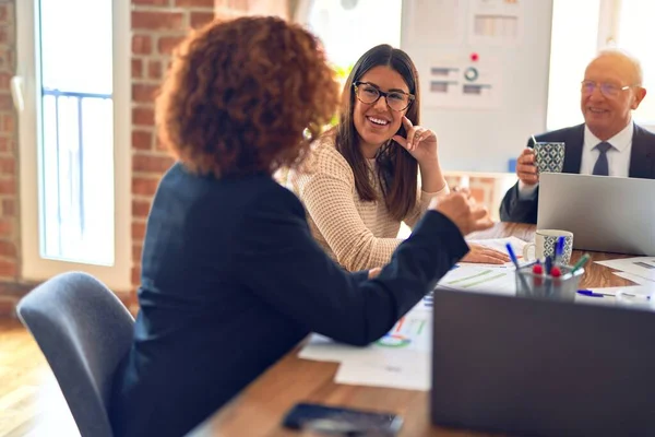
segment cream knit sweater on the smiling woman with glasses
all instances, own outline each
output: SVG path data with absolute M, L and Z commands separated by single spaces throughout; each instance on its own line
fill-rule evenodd
M 368 163 L 374 169 L 374 160 Z M 312 144 L 305 167 L 302 172 L 290 170 L 286 185 L 305 204 L 309 227 L 319 245 L 349 271 L 386 264 L 402 241 L 396 238 L 401 222 L 390 215 L 383 201 L 359 199 L 353 170 L 335 149 L 333 135 L 323 135 Z M 373 172 L 371 181 L 382 199 Z M 421 190 L 404 222 L 413 227 L 430 200 L 448 192 L 448 186 L 433 193 Z

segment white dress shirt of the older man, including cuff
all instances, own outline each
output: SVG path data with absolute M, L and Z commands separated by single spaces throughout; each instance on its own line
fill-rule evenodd
M 634 123 L 632 120 L 619 133 L 607 140 L 611 149 L 607 151 L 608 176 L 628 177 L 630 172 L 630 152 L 632 151 L 632 134 L 634 133 Z M 584 140 L 582 145 L 582 161 L 580 163 L 580 174 L 591 175 L 594 172 L 596 161 L 600 151 L 596 145 L 602 143 L 590 128 L 584 126 Z M 537 186 L 525 185 L 519 181 L 519 199 L 531 199 L 534 197 Z

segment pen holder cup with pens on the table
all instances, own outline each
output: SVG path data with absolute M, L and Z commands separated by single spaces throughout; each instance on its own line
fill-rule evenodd
M 547 274 L 533 273 L 534 264 L 535 262 L 516 270 L 516 296 L 569 302 L 575 299 L 584 269 L 580 268 L 573 272 L 571 265 L 560 265 L 562 275 L 552 277 Z

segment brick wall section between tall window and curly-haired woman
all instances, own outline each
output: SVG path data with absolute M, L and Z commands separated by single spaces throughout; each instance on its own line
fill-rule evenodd
M 141 250 L 152 197 L 171 160 L 153 126 L 153 94 L 171 49 L 191 27 L 216 15 L 286 16 L 284 0 L 132 0 L 132 285 L 140 282 Z

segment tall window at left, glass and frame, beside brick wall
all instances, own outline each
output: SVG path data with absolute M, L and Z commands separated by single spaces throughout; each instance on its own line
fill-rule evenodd
M 129 0 L 16 7 L 23 276 L 130 290 Z

